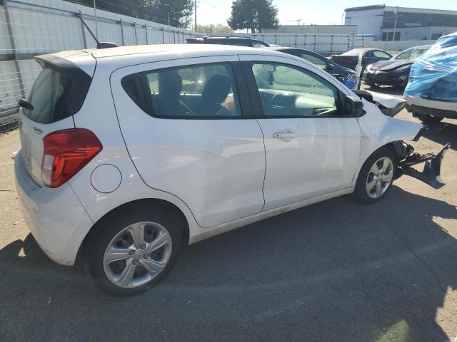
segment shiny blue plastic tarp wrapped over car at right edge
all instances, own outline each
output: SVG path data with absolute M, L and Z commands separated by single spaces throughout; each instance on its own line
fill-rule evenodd
M 411 66 L 404 95 L 457 102 L 457 32 L 439 38 Z

